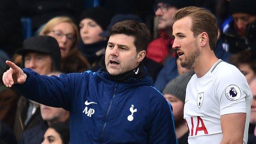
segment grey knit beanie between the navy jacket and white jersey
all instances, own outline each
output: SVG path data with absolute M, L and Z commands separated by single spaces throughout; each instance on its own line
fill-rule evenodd
M 192 75 L 194 75 L 194 71 L 174 78 L 166 85 L 163 94 L 171 94 L 185 103 L 187 83 L 190 81 Z

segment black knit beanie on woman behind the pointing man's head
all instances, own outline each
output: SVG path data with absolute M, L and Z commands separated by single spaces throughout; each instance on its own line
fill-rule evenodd
M 85 18 L 91 18 L 94 20 L 102 30 L 107 29 L 107 25 L 110 23 L 111 20 L 111 14 L 109 11 L 102 7 L 94 7 L 90 9 L 86 9 L 82 12 L 80 15 L 80 21 L 82 21 Z

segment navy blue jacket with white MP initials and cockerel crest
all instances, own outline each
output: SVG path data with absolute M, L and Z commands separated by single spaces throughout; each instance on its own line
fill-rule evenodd
M 23 69 L 27 80 L 16 85 L 33 101 L 70 111 L 71 144 L 176 144 L 171 106 L 152 79 L 116 83 L 109 73 L 40 76 Z

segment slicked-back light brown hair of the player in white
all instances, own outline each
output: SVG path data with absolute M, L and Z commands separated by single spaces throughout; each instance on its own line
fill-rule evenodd
M 218 37 L 216 17 L 210 11 L 201 7 L 184 7 L 174 13 L 173 19 L 178 21 L 187 16 L 192 19 L 191 31 L 194 33 L 194 37 L 206 32 L 209 36 L 210 49 L 214 50 Z

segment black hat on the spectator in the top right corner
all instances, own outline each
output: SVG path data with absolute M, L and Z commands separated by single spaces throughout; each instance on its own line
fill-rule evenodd
M 245 13 L 256 15 L 256 0 L 231 0 L 229 2 L 229 14 Z

